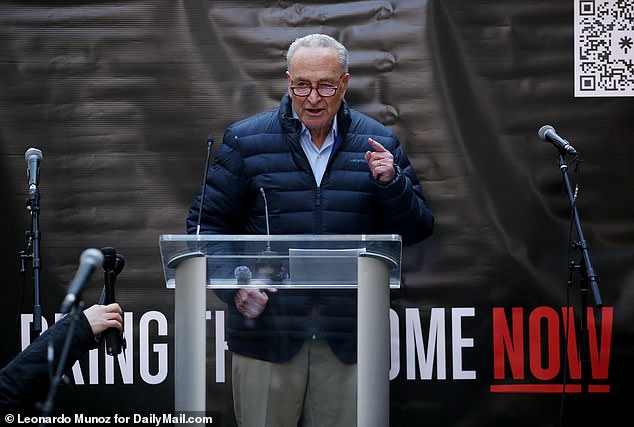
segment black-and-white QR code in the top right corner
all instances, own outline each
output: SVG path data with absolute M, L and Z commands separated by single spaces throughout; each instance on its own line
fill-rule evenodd
M 634 96 L 634 1 L 574 2 L 575 96 Z

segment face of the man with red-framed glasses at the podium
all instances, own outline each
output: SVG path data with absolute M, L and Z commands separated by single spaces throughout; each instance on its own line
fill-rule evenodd
M 334 48 L 300 47 L 291 60 L 286 77 L 299 119 L 310 130 L 313 139 L 325 137 L 339 111 L 350 78 L 342 70 L 337 51 Z M 312 90 L 308 96 L 297 96 L 291 86 L 310 86 Z M 332 86 L 337 90 L 333 96 L 321 96 L 318 86 Z

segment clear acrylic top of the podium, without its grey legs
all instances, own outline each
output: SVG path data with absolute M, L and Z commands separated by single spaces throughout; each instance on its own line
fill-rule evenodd
M 169 234 L 160 237 L 160 249 L 168 288 L 176 287 L 175 272 L 180 263 L 195 257 L 207 259 L 205 286 L 210 289 L 241 287 L 230 267 L 263 262 L 279 263 L 284 268 L 284 276 L 273 281 L 273 287 L 356 288 L 359 255 L 383 259 L 389 266 L 389 287 L 399 288 L 401 284 L 402 243 L 396 234 Z M 330 268 L 319 268 L 324 265 Z

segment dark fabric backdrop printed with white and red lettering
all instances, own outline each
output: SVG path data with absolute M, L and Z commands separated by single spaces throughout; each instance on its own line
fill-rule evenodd
M 159 236 L 185 232 L 207 135 L 220 141 L 230 123 L 276 107 L 287 46 L 324 32 L 350 50 L 351 106 L 394 129 L 436 215 L 434 235 L 404 250 L 392 294 L 391 425 L 610 425 L 629 416 L 621 402 L 634 361 L 634 108 L 627 96 L 575 97 L 577 1 L 2 2 L 2 365 L 22 348 L 33 313 L 30 260 L 21 274 L 20 254 L 31 224 L 24 154 L 36 147 L 47 323 L 84 249 L 112 246 L 126 259 L 117 299 L 127 359 L 82 360 L 83 384 L 63 386 L 58 408 L 173 408 L 174 291 Z M 570 245 L 557 150 L 537 135 L 545 124 L 581 153 L 569 176 L 604 304 L 590 334 L 601 344 L 591 345 L 600 351 L 589 382 L 601 391 L 565 398 L 535 386 L 566 382 L 562 307 L 577 325 L 581 312 L 581 274 L 569 274 L 580 251 Z M 93 279 L 87 304 L 101 292 Z M 207 406 L 231 426 L 230 370 L 217 368 L 226 356 L 214 342 L 223 306 L 208 299 Z M 508 384 L 529 391 L 496 388 Z

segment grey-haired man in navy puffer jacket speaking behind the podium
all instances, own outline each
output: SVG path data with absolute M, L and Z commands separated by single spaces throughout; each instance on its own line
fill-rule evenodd
M 188 233 L 430 236 L 434 217 L 398 139 L 348 107 L 346 48 L 310 34 L 286 59 L 279 108 L 228 127 Z M 239 425 L 356 425 L 355 290 L 216 292 L 228 305 Z

